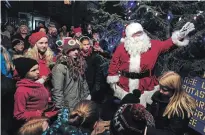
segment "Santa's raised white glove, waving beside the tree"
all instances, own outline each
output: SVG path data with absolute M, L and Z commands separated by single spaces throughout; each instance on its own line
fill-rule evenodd
M 194 24 L 187 22 L 179 31 L 179 39 L 185 38 L 191 31 L 195 30 Z

